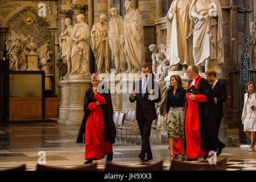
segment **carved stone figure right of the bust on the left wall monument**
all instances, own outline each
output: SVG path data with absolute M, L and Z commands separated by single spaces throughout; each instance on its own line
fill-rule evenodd
M 49 56 L 52 52 L 47 51 L 48 49 L 48 43 L 49 40 L 47 40 L 46 43 L 43 44 L 37 51 L 36 54 L 39 55 L 39 65 L 42 66 L 41 70 L 46 72 L 46 74 L 49 74 L 49 68 L 52 67 L 51 63 L 48 63 L 48 60 L 51 59 L 51 56 Z

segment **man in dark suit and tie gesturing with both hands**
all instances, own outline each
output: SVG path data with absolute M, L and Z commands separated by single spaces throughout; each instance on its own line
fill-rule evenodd
M 155 103 L 161 100 L 161 96 L 158 82 L 152 80 L 150 69 L 147 65 L 141 67 L 141 75 L 142 79 L 133 85 L 133 93 L 131 93 L 129 100 L 130 102 L 137 101 L 136 119 L 142 138 L 139 158 L 141 162 L 147 162 L 153 159 L 150 148 L 150 131 L 152 122 L 157 118 Z

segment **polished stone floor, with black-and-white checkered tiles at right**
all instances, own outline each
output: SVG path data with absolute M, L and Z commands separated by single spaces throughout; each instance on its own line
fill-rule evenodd
M 75 167 L 84 162 L 84 144 L 77 144 L 79 127 L 59 126 L 54 122 L 0 124 L 0 170 L 26 163 L 28 171 L 35 171 L 40 160 L 40 151 L 46 154 L 46 164 L 55 167 Z M 154 160 L 164 160 L 168 170 L 170 151 L 168 143 L 151 139 Z M 117 143 L 118 144 L 118 143 Z M 226 147 L 221 157 L 228 158 L 228 170 L 256 170 L 256 150 L 248 152 L 247 146 Z M 142 165 L 138 160 L 141 146 L 134 143 L 114 145 L 113 163 L 127 166 Z M 105 160 L 98 162 L 98 169 L 105 168 Z M 199 159 L 201 162 L 203 159 Z M 148 163 L 147 163 L 148 164 Z

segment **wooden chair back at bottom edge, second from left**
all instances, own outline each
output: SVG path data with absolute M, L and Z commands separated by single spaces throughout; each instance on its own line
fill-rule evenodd
M 96 171 L 96 170 L 97 170 L 97 163 L 86 164 L 84 166 L 77 166 L 72 168 L 52 167 L 52 166 L 46 166 L 42 164 L 38 164 L 38 166 L 36 166 L 36 171 Z

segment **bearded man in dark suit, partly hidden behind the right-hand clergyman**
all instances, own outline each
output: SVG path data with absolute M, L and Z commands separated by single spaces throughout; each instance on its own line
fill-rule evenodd
M 216 135 L 218 137 L 218 130 L 220 130 L 221 119 L 224 117 L 223 114 L 223 102 L 226 102 L 226 86 L 216 78 L 216 72 L 213 69 L 209 69 L 205 75 L 207 80 L 210 82 L 210 86 L 213 90 L 214 101 L 213 103 L 213 113 L 214 121 L 216 121 Z M 213 98 L 212 98 L 213 99 Z M 217 156 L 221 154 L 222 149 L 225 144 L 217 139 Z

